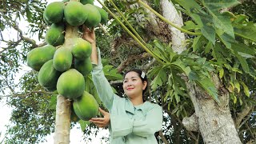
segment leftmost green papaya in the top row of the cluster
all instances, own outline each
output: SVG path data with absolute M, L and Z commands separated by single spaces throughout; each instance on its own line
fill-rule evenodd
M 61 22 L 64 16 L 64 2 L 51 2 L 43 14 L 50 23 Z

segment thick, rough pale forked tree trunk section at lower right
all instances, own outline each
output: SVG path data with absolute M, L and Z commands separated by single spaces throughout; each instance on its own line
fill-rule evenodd
M 183 119 L 183 124 L 187 130 L 190 130 L 190 127 L 193 127 L 190 125 L 198 123 L 198 130 L 200 130 L 205 143 L 240 144 L 242 142 L 230 114 L 229 93 L 221 87 L 218 76 L 215 75 L 213 80 L 219 90 L 219 104 L 199 88 L 187 83 L 195 116 Z M 190 122 L 186 121 L 188 119 Z

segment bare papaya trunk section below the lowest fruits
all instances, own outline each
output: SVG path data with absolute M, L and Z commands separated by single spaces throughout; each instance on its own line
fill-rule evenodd
M 70 105 L 68 99 L 57 96 L 54 144 L 70 143 Z

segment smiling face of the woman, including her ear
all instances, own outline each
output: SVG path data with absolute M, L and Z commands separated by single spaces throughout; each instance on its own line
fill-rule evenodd
M 122 88 L 129 98 L 134 98 L 136 96 L 142 96 L 142 91 L 145 90 L 146 85 L 146 81 L 142 82 L 138 73 L 130 71 L 123 80 Z

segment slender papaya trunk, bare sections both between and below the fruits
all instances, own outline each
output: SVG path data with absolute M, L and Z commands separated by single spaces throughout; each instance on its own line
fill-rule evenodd
M 69 49 L 73 38 L 78 37 L 78 27 L 66 26 L 64 47 Z M 56 106 L 56 120 L 54 132 L 54 144 L 70 143 L 70 113 L 71 102 L 69 99 L 58 95 Z

